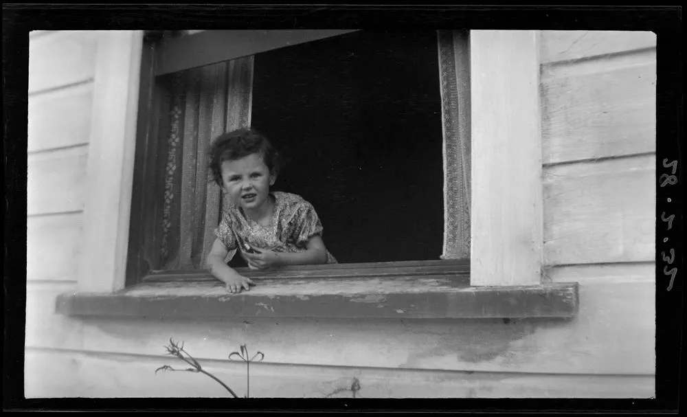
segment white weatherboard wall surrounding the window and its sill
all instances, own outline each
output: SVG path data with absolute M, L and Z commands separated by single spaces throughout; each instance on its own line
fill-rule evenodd
M 76 290 L 98 45 L 32 36 L 25 395 L 225 396 L 200 374 L 154 373 L 181 365 L 165 355 L 174 337 L 239 395 L 245 368 L 227 355 L 247 343 L 265 354 L 258 397 L 352 396 L 355 379 L 360 397 L 653 396 L 655 38 L 582 35 L 541 38 L 545 260 L 551 280 L 581 282 L 580 313 L 510 322 L 56 315 Z

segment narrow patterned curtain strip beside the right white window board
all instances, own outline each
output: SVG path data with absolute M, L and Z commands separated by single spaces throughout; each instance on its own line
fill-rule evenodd
M 469 32 L 438 31 L 444 132 L 444 253 L 470 257 L 470 50 Z

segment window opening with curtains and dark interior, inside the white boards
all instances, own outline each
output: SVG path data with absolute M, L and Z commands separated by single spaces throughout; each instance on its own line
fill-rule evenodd
M 467 32 L 159 35 L 144 45 L 127 284 L 197 277 L 223 204 L 205 151 L 247 126 L 282 150 L 273 189 L 313 203 L 340 262 L 284 273 L 466 273 Z

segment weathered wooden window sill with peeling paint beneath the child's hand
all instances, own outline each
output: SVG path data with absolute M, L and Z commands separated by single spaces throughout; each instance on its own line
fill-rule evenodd
M 445 265 L 446 262 L 443 262 Z M 471 286 L 466 268 L 309 267 L 246 272 L 257 285 L 228 293 L 207 271 L 153 275 L 116 293 L 64 293 L 58 313 L 188 319 L 308 317 L 335 319 L 477 319 L 574 317 L 578 285 Z M 181 279 L 183 278 L 183 279 Z

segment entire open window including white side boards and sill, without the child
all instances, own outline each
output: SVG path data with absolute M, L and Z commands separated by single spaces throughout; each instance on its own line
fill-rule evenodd
M 536 32 L 163 35 L 148 34 L 143 44 L 139 32 L 102 35 L 94 125 L 108 128 L 95 131 L 89 153 L 89 166 L 98 167 L 89 174 L 85 208 L 91 244 L 80 291 L 60 295 L 58 312 L 148 318 L 576 315 L 576 283 L 541 282 Z M 137 135 L 131 134 L 133 121 Z M 229 294 L 202 267 L 222 204 L 205 175 L 204 148 L 212 137 L 254 123 L 291 158 L 278 187 L 315 205 L 326 245 L 341 263 L 269 272 L 239 268 L 261 278 L 260 284 Z M 100 179 L 111 172 L 120 173 L 112 181 L 119 186 L 102 187 Z M 396 212 L 405 213 L 405 221 L 394 221 Z M 414 229 L 423 215 L 424 226 Z M 102 216 L 114 218 L 104 224 L 119 232 L 108 245 L 96 245 L 104 236 Z M 104 268 L 103 256 L 109 260 Z

